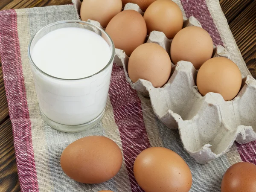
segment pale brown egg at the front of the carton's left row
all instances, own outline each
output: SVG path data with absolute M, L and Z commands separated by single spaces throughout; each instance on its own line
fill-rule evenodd
M 142 44 L 129 58 L 128 75 L 134 83 L 139 79 L 145 79 L 154 87 L 163 87 L 171 71 L 171 59 L 166 50 L 158 44 Z

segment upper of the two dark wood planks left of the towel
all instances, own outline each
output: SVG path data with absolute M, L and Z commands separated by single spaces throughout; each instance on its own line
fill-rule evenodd
M 0 67 L 0 124 L 9 117 L 8 104 L 6 99 L 6 90 L 3 82 L 3 71 Z

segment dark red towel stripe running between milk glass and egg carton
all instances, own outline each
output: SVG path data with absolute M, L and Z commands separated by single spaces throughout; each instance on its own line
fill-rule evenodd
M 122 141 L 123 154 L 132 192 L 143 192 L 134 174 L 134 160 L 141 151 L 150 147 L 140 99 L 125 79 L 122 67 L 113 65 L 109 97 L 113 106 L 116 125 Z

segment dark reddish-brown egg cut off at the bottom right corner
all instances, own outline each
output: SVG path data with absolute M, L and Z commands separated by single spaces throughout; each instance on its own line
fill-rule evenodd
M 221 192 L 256 192 L 256 165 L 240 162 L 227 169 Z

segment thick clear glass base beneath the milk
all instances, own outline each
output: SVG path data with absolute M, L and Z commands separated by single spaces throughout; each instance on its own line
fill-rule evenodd
M 44 121 L 49 126 L 51 126 L 52 128 L 54 128 L 58 131 L 62 131 L 62 132 L 66 132 L 66 133 L 78 133 L 78 132 L 85 131 L 85 130 L 92 128 L 94 125 L 96 125 L 102 119 L 102 116 L 104 115 L 104 113 L 105 113 L 105 109 L 95 119 L 93 119 L 90 122 L 81 124 L 81 125 L 63 125 L 63 124 L 57 123 L 55 121 L 52 121 L 41 111 Z

